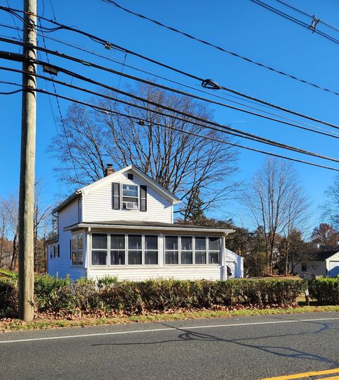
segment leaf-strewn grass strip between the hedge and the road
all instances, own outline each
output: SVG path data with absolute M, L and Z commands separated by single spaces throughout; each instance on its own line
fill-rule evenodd
M 93 318 L 83 317 L 80 320 L 67 319 L 34 319 L 31 322 L 20 321 L 20 319 L 0 320 L 0 331 L 23 331 L 23 330 L 44 330 L 61 329 L 65 327 L 85 327 L 114 324 L 147 323 L 157 321 L 178 321 L 186 319 L 203 318 L 225 318 L 225 317 L 246 317 L 255 315 L 271 314 L 298 314 L 308 312 L 339 312 L 339 305 L 336 306 L 299 306 L 295 308 L 276 309 L 239 309 L 231 311 L 211 311 L 202 310 L 198 312 L 178 312 L 174 314 L 156 315 L 133 315 L 131 317 L 114 318 Z

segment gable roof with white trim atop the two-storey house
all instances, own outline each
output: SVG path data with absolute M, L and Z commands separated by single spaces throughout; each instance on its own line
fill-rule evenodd
M 101 186 L 105 185 L 107 182 L 108 183 L 111 182 L 115 176 L 118 176 L 119 174 L 125 173 L 126 171 L 129 171 L 129 170 L 133 171 L 137 176 L 143 178 L 145 183 L 148 183 L 150 186 L 153 186 L 153 188 L 155 188 L 158 192 L 160 192 L 165 198 L 170 200 L 172 204 L 178 204 L 181 202 L 176 195 L 174 195 L 169 190 L 165 189 L 162 185 L 157 183 L 157 181 L 153 180 L 153 178 L 150 178 L 147 174 L 143 173 L 143 171 L 136 168 L 136 166 L 129 165 L 129 166 L 126 166 L 125 168 L 122 168 L 119 171 L 114 171 L 114 173 L 109 174 L 109 176 L 106 176 L 104 178 L 101 178 L 100 180 L 96 180 L 95 182 L 90 183 L 90 185 L 87 185 L 84 188 L 76 190 L 75 192 L 73 192 L 73 194 L 71 194 L 68 198 L 66 198 L 66 200 L 58 204 L 58 206 L 55 207 L 53 212 L 58 212 L 59 210 L 64 208 L 67 204 L 69 204 L 69 202 L 71 202 L 76 197 L 78 197 L 78 195 L 92 191 L 95 188 L 100 188 Z

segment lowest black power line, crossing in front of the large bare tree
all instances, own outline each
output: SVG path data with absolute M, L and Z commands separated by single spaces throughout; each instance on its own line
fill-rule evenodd
M 2 83 L 3 81 L 0 81 L 0 82 Z M 13 82 L 5 82 L 5 83 L 6 84 L 10 84 L 10 85 L 16 85 L 16 86 L 22 87 L 22 85 L 19 85 L 17 83 L 13 83 Z M 20 89 L 18 91 L 22 91 L 22 90 L 23 89 Z M 65 99 L 65 100 L 68 100 L 69 102 L 74 102 L 74 103 L 77 103 L 77 104 L 82 104 L 83 106 L 88 106 L 91 109 L 95 109 L 97 111 L 102 112 L 103 114 L 114 114 L 114 115 L 117 115 L 117 116 L 124 116 L 126 118 L 133 118 L 136 121 L 147 122 L 147 120 L 143 119 L 143 118 L 138 118 L 136 116 L 131 116 L 129 114 L 122 114 L 121 112 L 112 111 L 111 109 L 107 109 L 107 108 L 102 107 L 102 106 L 97 106 L 95 104 L 88 104 L 88 103 L 83 102 L 81 100 L 74 99 L 74 98 L 71 98 L 71 97 L 66 97 L 66 96 L 61 95 L 61 94 L 55 94 L 53 92 L 48 92 L 48 91 L 42 90 L 42 89 L 35 89 L 35 91 L 36 92 L 40 92 L 42 94 L 47 94 L 47 95 L 52 95 L 54 97 L 59 97 L 60 99 Z M 218 138 L 215 138 L 215 137 L 210 137 L 210 136 L 206 136 L 206 135 L 200 135 L 198 133 L 193 133 L 193 132 L 190 132 L 190 131 L 187 131 L 187 130 L 181 130 L 179 128 L 174 128 L 174 127 L 172 127 L 170 125 L 165 125 L 165 124 L 161 124 L 161 123 L 153 123 L 153 124 L 158 125 L 158 126 L 163 127 L 163 128 L 177 130 L 179 133 L 186 133 L 186 134 L 189 134 L 189 135 L 194 135 L 196 137 L 201 137 L 201 138 L 206 139 L 206 140 L 213 140 L 215 142 L 222 142 L 223 144 L 231 145 L 233 147 L 239 147 L 241 149 L 247 149 L 247 150 L 250 150 L 252 152 L 266 154 L 268 156 L 278 157 L 278 158 L 281 158 L 281 159 L 287 159 L 287 160 L 290 160 L 290 161 L 295 161 L 295 162 L 299 162 L 301 164 L 307 164 L 307 165 L 311 165 L 311 166 L 316 166 L 316 167 L 319 167 L 319 168 L 326 168 L 326 169 L 333 170 L 333 171 L 339 171 L 338 168 L 333 168 L 331 166 L 325 166 L 325 165 L 321 165 L 321 164 L 315 164 L 314 162 L 309 162 L 309 161 L 304 161 L 304 160 L 300 160 L 300 159 L 295 159 L 295 158 L 292 158 L 292 157 L 283 156 L 281 154 L 275 154 L 273 152 L 266 152 L 264 150 L 256 149 L 256 148 L 252 148 L 252 147 L 246 147 L 244 145 L 239 145 L 239 144 L 234 143 L 234 142 L 228 142 L 228 141 L 221 140 L 221 139 L 218 139 Z

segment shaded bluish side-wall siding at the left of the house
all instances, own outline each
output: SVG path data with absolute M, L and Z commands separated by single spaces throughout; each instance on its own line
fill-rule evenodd
M 85 276 L 85 269 L 83 266 L 72 266 L 72 260 L 69 252 L 69 240 L 72 235 L 70 231 L 64 231 L 64 228 L 79 222 L 79 209 L 78 205 L 81 202 L 73 200 L 64 209 L 59 212 L 58 229 L 59 229 L 59 245 L 60 257 L 51 259 L 48 256 L 48 274 L 52 276 L 66 277 L 70 275 L 72 279 Z M 57 244 L 57 243 L 56 243 Z

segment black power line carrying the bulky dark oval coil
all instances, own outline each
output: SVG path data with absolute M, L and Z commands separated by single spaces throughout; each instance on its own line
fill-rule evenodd
M 18 10 L 18 9 L 6 8 L 6 7 L 4 7 L 4 6 L 0 6 L 0 10 L 3 10 L 3 11 L 11 11 L 11 12 L 16 11 L 16 12 L 23 13 L 22 11 L 20 11 L 20 10 Z M 44 18 L 44 17 L 42 17 L 42 16 L 38 16 L 38 15 L 36 15 L 36 16 L 39 17 L 39 18 L 41 18 L 42 20 L 46 20 L 46 21 L 48 21 L 49 23 L 53 23 L 54 25 L 58 25 L 59 27 L 54 28 L 54 30 L 65 29 L 65 30 L 69 30 L 69 31 L 72 31 L 72 32 L 76 32 L 76 33 L 78 33 L 78 34 L 84 35 L 85 37 L 88 37 L 88 38 L 92 39 L 94 42 L 98 42 L 98 43 L 102 44 L 106 49 L 110 49 L 110 48 L 118 49 L 118 50 L 120 50 L 120 51 L 124 51 L 124 52 L 126 52 L 126 53 L 129 53 L 129 54 L 132 54 L 132 55 L 134 55 L 134 56 L 137 56 L 138 58 L 145 59 L 146 61 L 149 61 L 149 62 L 151 62 L 151 63 L 155 63 L 155 64 L 158 65 L 158 66 L 162 66 L 162 67 L 164 67 L 164 68 L 167 68 L 167 69 L 169 69 L 169 70 L 175 71 L 175 72 L 180 73 L 180 74 L 182 74 L 182 75 L 186 75 L 188 78 L 198 80 L 198 81 L 200 81 L 201 83 L 206 82 L 206 80 L 204 80 L 203 78 L 199 78 L 199 77 L 196 76 L 196 75 L 193 75 L 193 74 L 191 74 L 191 73 L 187 73 L 187 72 L 185 72 L 185 71 L 179 70 L 178 68 L 174 68 L 173 66 L 169 66 L 169 65 L 167 65 L 166 63 L 162 63 L 162 62 L 160 62 L 160 61 L 156 61 L 155 59 L 151 59 L 151 58 L 149 58 L 149 57 L 147 57 L 147 56 L 143 56 L 142 54 L 136 53 L 135 51 L 131 51 L 131 50 L 129 50 L 129 49 L 125 49 L 125 48 L 123 48 L 123 47 L 119 47 L 119 45 L 114 44 L 113 42 L 109 42 L 109 41 L 107 41 L 107 40 L 105 40 L 105 39 L 102 39 L 102 38 L 100 38 L 100 37 L 97 37 L 97 36 L 95 36 L 95 35 L 92 35 L 92 34 L 90 34 L 90 33 L 88 33 L 88 32 L 84 32 L 83 30 L 79 30 L 79 29 L 76 29 L 76 28 L 74 28 L 74 27 L 70 27 L 70 26 L 67 26 L 67 25 L 63 25 L 63 24 L 61 24 L 61 23 L 57 23 L 57 21 L 48 20 L 47 18 Z M 44 29 L 52 30 L 52 29 L 50 29 L 50 28 L 44 28 Z M 54 30 L 53 30 L 53 31 L 54 31 Z M 214 82 L 213 82 L 213 83 L 214 83 Z M 237 95 L 239 95 L 239 96 L 241 96 L 241 97 L 245 97 L 246 99 L 251 99 L 251 100 L 253 100 L 253 101 L 255 101 L 255 102 L 259 102 L 259 103 L 261 103 L 261 104 L 266 104 L 267 106 L 271 106 L 271 107 L 273 107 L 273 108 L 275 108 L 275 109 L 279 109 L 280 111 L 285 111 L 285 112 L 288 112 L 288 113 L 290 113 L 290 114 L 294 114 L 295 116 L 300 116 L 300 117 L 303 117 L 303 118 L 308 118 L 309 120 L 311 120 L 311 121 L 316 121 L 317 123 L 323 123 L 323 124 L 328 125 L 328 126 L 333 126 L 331 123 L 328 123 L 328 122 L 326 122 L 326 121 L 321 121 L 321 120 L 319 120 L 319 119 L 317 119 L 317 118 L 314 118 L 314 117 L 311 117 L 311 116 L 307 116 L 307 115 L 301 114 L 301 113 L 299 113 L 299 112 L 297 112 L 297 111 L 292 111 L 292 110 L 290 110 L 290 109 L 285 109 L 285 108 L 282 107 L 282 106 L 278 106 L 278 105 L 276 105 L 276 104 L 272 104 L 272 103 L 270 103 L 270 102 L 266 102 L 266 101 L 264 101 L 264 100 L 262 100 L 262 99 L 258 99 L 258 98 L 256 98 L 256 97 L 251 97 L 250 95 L 244 94 L 244 93 L 242 93 L 242 92 L 232 90 L 230 87 L 225 87 L 225 86 L 220 86 L 220 85 L 218 85 L 218 87 L 215 87 L 215 88 L 222 89 L 222 90 L 225 90 L 225 91 L 227 91 L 227 92 L 232 92 L 233 94 L 237 94 Z

